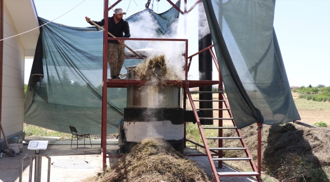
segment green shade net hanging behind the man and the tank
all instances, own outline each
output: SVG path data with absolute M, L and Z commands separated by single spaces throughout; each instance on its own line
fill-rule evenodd
M 134 18 L 138 15 L 127 18 L 128 22 L 140 21 Z M 153 17 L 158 19 L 154 30 L 166 35 L 173 30 L 169 25 L 179 15 L 171 9 L 156 16 L 154 13 Z M 47 22 L 39 17 L 40 25 Z M 24 98 L 24 122 L 68 133 L 69 125 L 73 125 L 80 133 L 101 134 L 102 61 L 100 29 L 53 22 L 41 27 Z M 126 73 L 125 66 L 135 66 L 138 62 L 126 59 L 121 73 Z M 126 107 L 126 88 L 107 90 L 107 133 L 117 133 L 117 123 Z

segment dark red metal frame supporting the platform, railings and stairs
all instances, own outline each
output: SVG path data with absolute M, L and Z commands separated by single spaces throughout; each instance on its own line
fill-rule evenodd
M 104 0 L 104 17 L 108 17 L 108 11 L 111 10 L 112 8 L 114 8 L 118 3 L 120 3 L 122 0 L 118 0 L 116 3 L 114 3 L 112 6 L 108 7 L 108 3 L 109 3 L 109 0 Z M 187 0 L 184 0 L 184 12 L 182 12 L 180 10 L 180 8 L 178 8 L 174 3 L 171 2 L 171 0 L 167 0 L 167 2 L 169 2 L 176 10 L 178 10 L 182 15 L 183 14 L 187 14 L 189 12 L 192 11 L 192 9 L 201 2 L 202 0 L 197 0 L 196 3 L 187 11 Z M 108 8 L 106 8 L 108 7 Z M 166 38 L 108 38 L 108 21 L 105 21 L 105 31 L 104 31 L 104 53 L 107 53 L 108 52 L 108 40 L 154 40 L 154 41 L 185 41 L 185 80 L 167 80 L 165 83 L 162 83 L 162 84 L 159 84 L 159 85 L 175 85 L 175 86 L 180 86 L 180 87 L 183 87 L 183 107 L 184 109 L 186 109 L 186 99 L 187 99 L 187 96 L 189 98 L 189 101 L 190 101 L 190 104 L 191 104 L 191 107 L 193 107 L 193 112 L 194 112 L 194 115 L 195 115 L 195 118 L 196 118 L 196 121 L 197 121 L 197 125 L 199 126 L 199 130 L 201 132 L 201 135 L 202 135 L 202 138 L 203 138 L 203 143 L 204 143 L 204 146 L 203 145 L 200 145 L 200 144 L 197 144 L 197 143 L 194 143 L 193 141 L 189 141 L 186 139 L 186 123 L 184 123 L 184 139 L 185 139 L 185 142 L 184 142 L 184 147 L 186 147 L 186 140 L 188 142 L 191 142 L 195 145 L 198 145 L 200 147 L 203 147 L 203 148 L 208 148 L 208 144 L 206 142 L 206 139 L 205 139 L 205 135 L 204 135 L 204 132 L 203 132 L 203 128 L 201 126 L 201 123 L 200 123 L 200 120 L 197 116 L 197 113 L 196 113 L 196 110 L 194 108 L 194 105 L 193 105 L 193 102 L 192 102 L 192 98 L 191 98 L 191 95 L 190 95 L 190 91 L 189 91 L 189 88 L 190 87 L 199 87 L 199 86 L 206 86 L 206 85 L 214 85 L 214 84 L 219 84 L 219 89 L 218 91 L 221 92 L 219 93 L 219 99 L 221 100 L 225 100 L 225 97 L 223 95 L 223 88 L 222 88 L 222 77 L 221 77 L 221 73 L 220 73 L 220 69 L 219 69 L 219 65 L 217 64 L 217 60 L 215 58 L 215 55 L 212 51 L 212 47 L 214 47 L 214 45 L 210 45 L 209 47 L 203 49 L 202 51 L 200 52 L 197 52 L 191 56 L 188 57 L 187 53 L 188 53 L 188 39 L 166 39 Z M 186 17 L 185 17 L 185 20 L 184 20 L 184 33 L 186 33 Z M 204 51 L 207 51 L 209 50 L 210 53 L 211 53 L 211 56 L 215 62 L 215 65 L 216 65 L 216 68 L 219 72 L 219 80 L 218 81 L 206 81 L 206 80 L 188 80 L 187 77 L 188 77 L 188 71 L 189 71 L 189 68 L 190 68 L 190 64 L 191 64 L 191 60 L 192 60 L 192 57 L 204 52 Z M 105 55 L 105 54 L 104 54 Z M 189 63 L 188 63 L 188 59 L 189 59 Z M 106 167 L 106 158 L 117 158 L 117 157 L 120 157 L 120 156 L 106 156 L 106 133 L 107 133 L 107 122 L 106 122 L 106 118 L 107 118 L 107 88 L 108 87 L 127 87 L 128 85 L 146 85 L 146 82 L 143 81 L 143 80 L 120 80 L 120 79 L 108 79 L 107 78 L 107 56 L 104 56 L 103 58 L 103 99 L 102 99 L 102 132 L 101 132 L 101 143 L 102 143 L 102 149 L 103 149 L 103 168 L 105 169 Z M 224 102 L 225 106 L 229 109 L 229 115 L 230 117 L 233 117 L 232 116 L 232 112 L 230 111 L 230 107 L 229 107 L 229 104 L 227 102 L 227 100 L 225 100 Z M 219 109 L 222 109 L 223 108 L 223 104 L 219 102 Z M 222 110 L 219 110 L 219 118 L 222 118 Z M 221 116 L 221 117 L 220 117 Z M 234 120 L 233 121 L 233 124 L 234 126 L 236 126 Z M 222 120 L 219 119 L 219 126 L 222 126 Z M 262 125 L 261 123 L 257 123 L 258 125 L 258 148 L 257 148 L 257 163 L 258 163 L 258 166 L 256 166 L 252 161 L 250 161 L 250 164 L 253 168 L 254 171 L 258 172 L 259 175 L 253 175 L 253 176 L 256 176 L 257 178 L 257 181 L 262 181 L 261 180 L 261 131 L 262 131 Z M 237 129 L 237 133 L 239 136 L 242 136 L 242 133 L 240 132 L 239 129 Z M 222 136 L 222 130 L 219 129 L 219 136 Z M 203 137 L 204 136 L 204 137 Z M 243 140 L 243 137 L 242 137 L 242 140 L 241 140 L 241 143 L 244 147 L 247 148 L 246 144 L 245 144 L 245 141 Z M 222 140 L 219 140 L 219 143 L 218 143 L 219 147 L 222 147 Z M 215 154 L 211 154 L 210 153 L 210 150 L 206 150 L 206 155 L 208 156 L 208 159 L 210 161 L 210 164 L 211 164 L 211 168 L 212 168 L 212 172 L 214 174 L 214 179 L 216 181 L 220 181 L 218 176 L 217 176 L 217 171 L 214 171 L 215 170 L 215 166 L 214 166 L 214 163 L 213 163 L 213 160 L 212 160 L 212 156 L 213 155 L 218 155 L 219 158 L 222 158 L 222 151 L 219 151 L 218 153 L 215 152 L 215 151 L 211 151 L 211 152 L 214 152 Z M 189 156 L 193 156 L 193 155 L 197 155 L 197 156 L 200 156 L 199 154 L 190 154 Z M 202 156 L 205 156 L 205 154 L 201 154 Z M 247 153 L 248 155 L 248 153 Z M 249 157 L 252 158 L 252 156 L 248 155 Z M 219 167 L 222 167 L 222 161 L 220 162 L 219 161 Z M 238 176 L 238 175 L 228 175 L 228 176 Z M 243 176 L 246 176 L 246 175 L 243 175 Z

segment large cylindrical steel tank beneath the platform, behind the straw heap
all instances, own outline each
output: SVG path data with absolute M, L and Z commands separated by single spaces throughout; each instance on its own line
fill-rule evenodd
M 127 69 L 127 68 L 126 68 Z M 127 76 L 136 78 L 132 68 Z M 183 152 L 184 109 L 178 86 L 128 86 L 127 107 L 120 129 L 120 152 L 125 153 L 148 137 L 159 137 Z

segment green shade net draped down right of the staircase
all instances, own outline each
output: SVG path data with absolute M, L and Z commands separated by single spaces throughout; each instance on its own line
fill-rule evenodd
M 275 0 L 203 0 L 238 128 L 300 120 L 273 28 Z

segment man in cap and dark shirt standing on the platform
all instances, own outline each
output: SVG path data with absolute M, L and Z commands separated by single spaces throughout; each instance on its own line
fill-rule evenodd
M 126 13 L 121 8 L 116 8 L 112 17 L 108 17 L 108 31 L 115 37 L 130 37 L 129 25 L 122 17 Z M 90 18 L 85 17 L 90 23 Z M 105 19 L 101 21 L 93 21 L 97 25 L 104 26 Z M 110 35 L 108 35 L 111 37 Z M 124 40 L 108 40 L 108 63 L 110 66 L 111 79 L 120 79 L 120 70 L 125 61 L 125 46 Z

